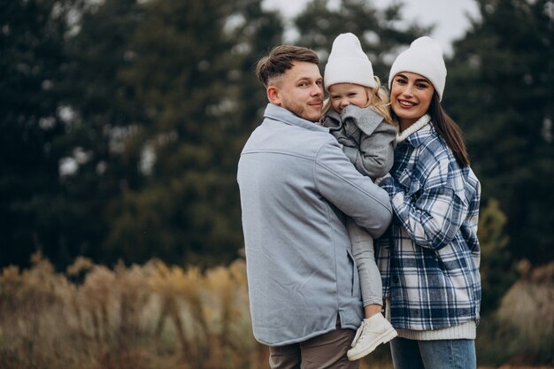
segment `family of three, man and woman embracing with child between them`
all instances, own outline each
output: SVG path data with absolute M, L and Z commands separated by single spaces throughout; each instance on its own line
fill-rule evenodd
M 358 368 L 390 342 L 396 369 L 475 368 L 481 187 L 442 109 L 441 46 L 412 42 L 388 90 L 352 34 L 323 77 L 313 50 L 288 45 L 256 73 L 269 104 L 237 181 L 270 367 Z

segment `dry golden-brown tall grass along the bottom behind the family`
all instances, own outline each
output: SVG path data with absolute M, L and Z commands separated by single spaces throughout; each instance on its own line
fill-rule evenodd
M 484 319 L 481 364 L 554 364 L 552 270 L 529 272 Z M 0 274 L 0 369 L 263 369 L 267 358 L 252 337 L 242 259 L 201 272 L 78 258 L 57 273 L 35 255 L 31 268 Z M 360 367 L 392 368 L 389 348 Z

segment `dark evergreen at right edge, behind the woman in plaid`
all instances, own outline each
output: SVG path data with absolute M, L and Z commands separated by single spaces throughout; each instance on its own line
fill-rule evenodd
M 444 105 L 466 132 L 483 201 L 506 213 L 512 258 L 554 257 L 553 3 L 479 0 L 455 42 Z

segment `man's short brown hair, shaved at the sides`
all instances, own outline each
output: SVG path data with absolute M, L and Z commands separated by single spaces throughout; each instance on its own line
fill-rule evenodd
M 319 65 L 318 54 L 312 49 L 291 45 L 276 46 L 266 57 L 258 61 L 258 80 L 267 87 L 269 80 L 286 73 L 296 61 Z

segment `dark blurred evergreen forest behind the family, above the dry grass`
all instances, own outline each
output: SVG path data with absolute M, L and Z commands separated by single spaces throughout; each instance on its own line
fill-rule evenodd
M 327 3 L 292 19 L 294 43 L 323 66 L 353 32 L 383 84 L 431 30 L 402 2 Z M 475 3 L 443 105 L 483 188 L 489 314 L 554 260 L 554 2 Z M 58 271 L 80 257 L 201 271 L 240 259 L 236 163 L 266 104 L 253 69 L 286 24 L 262 0 L 0 0 L 0 268 L 32 267 L 37 251 Z

